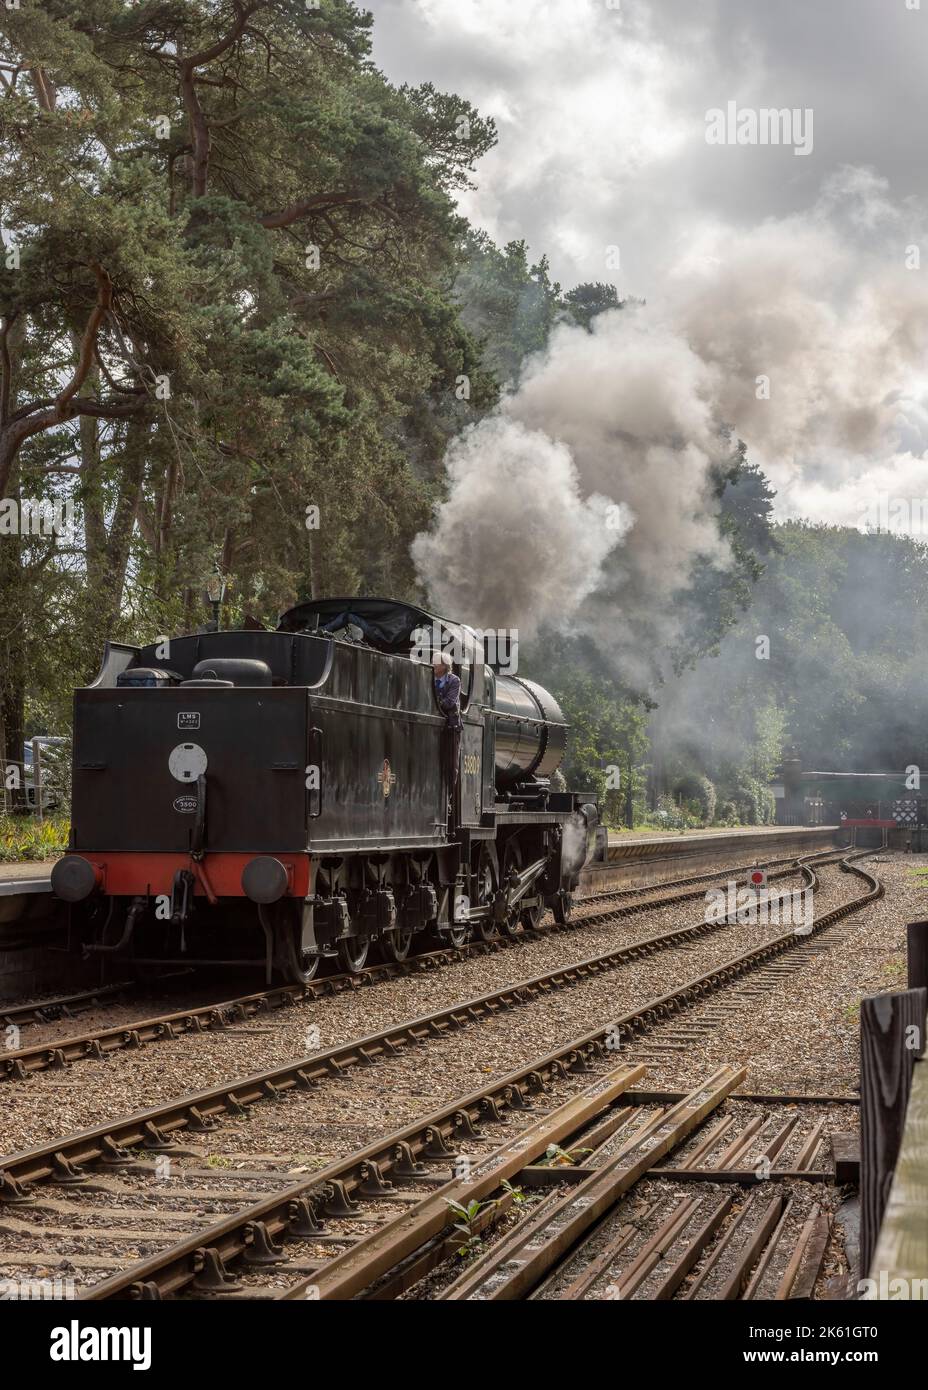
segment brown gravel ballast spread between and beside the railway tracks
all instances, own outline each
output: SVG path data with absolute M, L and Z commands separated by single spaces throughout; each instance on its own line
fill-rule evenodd
M 904 924 L 924 916 L 925 888 L 913 877 L 913 870 L 927 869 L 928 856 L 878 855 L 874 859 L 879 860 L 875 872 L 886 883 L 886 897 L 800 947 L 796 959 L 813 949 L 813 967 L 806 963 L 792 974 L 781 972 L 777 988 L 765 992 L 754 990 L 753 977 L 746 976 L 703 1005 L 686 1009 L 657 1024 L 646 1037 L 622 1045 L 610 1056 L 608 1065 L 633 1063 L 639 1055 L 642 1059 L 646 1056 L 649 1072 L 642 1086 L 653 1088 L 688 1090 L 703 1081 L 715 1066 L 740 1063 L 747 1068 L 746 1091 L 853 1094 L 859 1065 L 860 997 L 904 987 Z M 822 869 L 820 876 L 817 915 L 863 891 L 859 878 L 842 874 L 834 866 Z M 792 884 L 781 880 L 774 887 L 782 891 L 784 885 Z M 183 1091 L 281 1065 L 397 1020 L 503 988 L 568 960 L 697 922 L 700 909 L 699 901 L 690 901 L 661 912 L 593 923 L 572 933 L 527 941 L 520 949 L 458 962 L 426 976 L 383 981 L 350 995 L 310 1001 L 218 1034 L 151 1044 L 138 1052 L 114 1054 L 103 1062 L 88 1061 L 64 1072 L 39 1073 L 25 1083 L 6 1083 L 0 1087 L 3 1147 L 6 1151 L 25 1148 Z M 278 1169 L 281 1176 L 286 1172 L 311 1173 L 326 1161 L 418 1119 L 454 1095 L 479 1088 L 571 1037 L 607 1026 L 647 998 L 778 935 L 779 930 L 770 924 L 725 924 L 685 947 L 631 962 L 461 1033 L 429 1040 L 395 1059 L 351 1069 L 315 1091 L 290 1093 L 272 1104 L 254 1105 L 240 1116 L 224 1120 L 208 1136 L 185 1136 L 182 1145 L 192 1151 L 192 1156 L 181 1161 L 176 1176 L 181 1177 L 185 1162 L 222 1165 L 224 1170 L 217 1173 L 217 1190 L 236 1184 L 257 1194 L 261 1184 L 256 1186 L 250 1176 L 245 1180 L 245 1172 L 238 1179 L 238 1172 L 260 1169 L 270 1175 Z M 778 958 L 778 965 L 785 966 L 790 955 L 786 952 Z M 314 1029 L 318 1033 L 311 1031 Z M 557 1101 L 581 1088 L 585 1080 L 577 1077 L 558 1084 Z M 803 1119 L 811 1119 L 813 1112 L 813 1106 L 804 1106 Z M 521 1120 L 514 1118 L 513 1123 L 520 1125 Z M 839 1127 L 852 1129 L 854 1123 L 854 1108 L 845 1108 Z M 493 1126 L 493 1141 L 500 1143 L 503 1137 L 504 1130 Z M 790 1140 L 785 1158 L 793 1147 Z M 778 1166 L 781 1162 L 778 1159 Z M 802 1188 L 795 1202 L 799 1220 L 804 1219 L 803 1213 L 813 1200 L 821 1201 L 828 1187 L 797 1186 Z M 214 1204 L 193 1205 L 197 1225 L 203 1218 L 215 1219 L 215 1215 L 229 1209 L 229 1202 L 221 1200 L 218 1191 Z M 54 1226 L 50 1218 L 29 1218 L 29 1223 Z M 143 1240 L 140 1247 L 156 1250 L 161 1244 L 157 1220 L 139 1213 L 139 1229 L 147 1232 L 149 1225 L 153 1227 L 151 1244 L 149 1247 Z M 36 1248 L 35 1237 L 14 1230 L 3 1236 L 1 1244 L 4 1251 Z M 64 1243 L 64 1259 L 68 1251 L 74 1257 L 85 1247 L 103 1262 L 111 1258 L 108 1245 L 94 1244 L 89 1234 L 82 1244 L 79 1232 L 75 1232 L 74 1241 Z M 1 1254 L 0 1268 L 4 1268 Z M 14 1269 L 8 1266 L 8 1272 Z M 603 1295 L 602 1290 L 590 1293 L 590 1297 Z

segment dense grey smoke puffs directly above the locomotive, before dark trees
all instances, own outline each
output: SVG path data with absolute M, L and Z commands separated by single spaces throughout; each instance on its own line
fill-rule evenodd
M 577 627 L 597 595 L 610 648 L 643 628 L 670 642 L 693 560 L 728 556 L 709 486 L 729 450 L 714 395 L 711 367 L 645 310 L 600 314 L 592 332 L 558 325 L 449 449 L 447 500 L 413 545 L 432 602 L 531 637 Z

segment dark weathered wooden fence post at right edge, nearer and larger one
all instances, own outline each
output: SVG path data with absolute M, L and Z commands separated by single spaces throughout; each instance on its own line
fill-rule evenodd
M 860 1272 L 870 1273 L 906 1123 L 911 1070 L 925 1047 L 928 990 L 860 1004 Z

